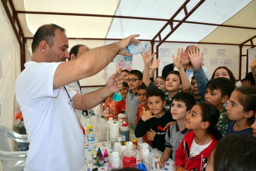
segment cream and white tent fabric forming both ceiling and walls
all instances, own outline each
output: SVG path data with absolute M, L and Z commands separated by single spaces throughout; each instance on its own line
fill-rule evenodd
M 103 14 L 132 17 L 148 17 L 170 19 L 185 0 L 12 0 L 16 11 L 33 12 L 62 12 L 77 14 Z M 199 0 L 190 0 L 187 4 L 188 12 Z M 8 0 L 10 9 L 10 3 Z M 12 11 L 11 11 L 12 14 Z M 256 28 L 256 0 L 205 0 L 204 3 L 186 20 L 233 26 L 245 26 Z M 66 29 L 70 39 L 70 47 L 76 44 L 85 44 L 90 48 L 113 43 L 113 40 L 82 40 L 81 38 L 124 38 L 132 34 L 140 34 L 140 39 L 151 40 L 165 25 L 166 21 L 138 20 L 113 17 L 88 17 L 76 15 L 53 14 L 22 14 L 18 13 L 21 28 L 26 40 L 26 61 L 31 60 L 31 43 L 33 34 L 39 26 L 46 23 L 55 23 Z M 181 20 L 184 12 L 175 17 Z M 14 114 L 18 111 L 15 101 L 14 85 L 17 75 L 20 73 L 20 45 L 14 34 L 9 18 L 0 3 L 0 125 L 12 127 Z M 177 22 L 174 22 L 176 26 Z M 17 27 L 17 23 L 15 23 Z M 162 39 L 171 31 L 170 26 L 161 33 Z M 183 23 L 166 41 L 184 41 L 184 43 L 163 43 L 159 50 L 166 48 L 169 54 L 160 55 L 159 75 L 165 64 L 172 62 L 171 55 L 177 53 L 178 47 L 186 48 L 195 42 L 204 52 L 204 64 L 209 72 L 220 65 L 227 64 L 236 78 L 239 75 L 239 44 L 256 35 L 256 29 L 237 29 L 230 27 L 218 27 L 202 24 Z M 158 40 L 158 38 L 156 39 Z M 199 43 L 197 43 L 199 42 Z M 201 44 L 233 43 L 232 45 Z M 154 52 L 156 45 L 154 44 Z M 256 39 L 253 40 L 256 44 Z M 246 43 L 250 45 L 250 42 Z M 244 46 L 242 54 L 246 54 Z M 221 53 L 218 53 L 221 52 Z M 227 63 L 228 61 L 228 63 Z M 246 71 L 246 57 L 242 58 L 241 77 Z M 133 59 L 134 69 L 143 71 L 143 60 L 140 55 Z M 90 78 L 81 80 L 82 86 L 104 85 L 115 71 L 111 62 L 104 70 Z M 83 92 L 93 89 L 83 88 Z

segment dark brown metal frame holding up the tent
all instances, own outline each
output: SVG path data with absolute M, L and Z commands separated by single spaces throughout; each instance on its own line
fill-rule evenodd
M 247 41 L 244 41 L 241 44 L 235 44 L 235 43 L 213 43 L 213 42 L 186 42 L 186 41 L 166 41 L 166 39 L 172 35 L 173 32 L 183 23 L 191 23 L 191 24 L 201 24 L 201 25 L 209 25 L 209 26 L 219 26 L 219 27 L 230 27 L 230 28 L 238 28 L 238 29 L 253 29 L 256 30 L 255 27 L 244 27 L 244 26 L 233 26 L 233 25 L 225 25 L 225 24 L 215 24 L 215 23 L 202 23 L 202 22 L 195 22 L 195 21 L 186 21 L 186 19 L 195 12 L 199 6 L 201 6 L 202 3 L 204 3 L 205 0 L 200 0 L 194 8 L 192 8 L 189 12 L 187 11 L 186 4 L 189 3 L 190 0 L 186 0 L 179 9 L 175 12 L 175 14 L 172 15 L 170 19 L 163 19 L 163 18 L 149 18 L 149 17 L 131 17 L 131 16 L 120 16 L 120 15 L 104 15 L 104 14 L 80 14 L 80 13 L 65 13 L 65 12 L 35 12 L 35 11 L 16 11 L 14 3 L 12 0 L 1 0 L 4 6 L 4 9 L 9 17 L 9 20 L 12 24 L 12 28 L 15 32 L 15 35 L 17 37 L 17 40 L 20 44 L 20 68 L 21 71 L 24 70 L 24 64 L 26 62 L 26 54 L 25 54 L 25 43 L 27 39 L 32 39 L 32 37 L 25 37 L 22 31 L 22 27 L 20 25 L 20 21 L 18 18 L 18 14 L 50 14 L 50 15 L 72 15 L 72 16 L 84 16 L 84 17 L 111 17 L 111 18 L 128 18 L 128 19 L 135 19 L 135 20 L 157 20 L 157 21 L 166 21 L 166 24 L 163 26 L 162 29 L 152 38 L 151 40 L 145 40 L 145 39 L 139 39 L 140 41 L 150 41 L 151 47 L 154 47 L 155 42 L 159 42 L 156 46 L 156 56 L 158 58 L 158 49 L 159 46 L 163 42 L 170 42 L 170 43 L 201 43 L 201 44 L 223 44 L 223 45 L 234 45 L 239 46 L 240 48 L 240 58 L 239 58 L 239 80 L 241 80 L 241 63 L 242 63 L 242 57 L 247 57 L 247 67 L 246 67 L 246 73 L 248 72 L 248 53 L 247 55 L 242 55 L 242 48 L 243 46 L 251 46 L 250 48 L 256 47 L 256 45 L 253 44 L 253 39 L 256 38 L 256 35 L 252 38 L 248 39 Z M 179 14 L 181 11 L 184 11 L 185 17 L 183 17 L 182 20 L 174 20 L 174 18 Z M 177 22 L 177 25 L 173 27 L 173 23 Z M 161 32 L 167 27 L 171 27 L 171 32 L 166 35 L 163 39 L 161 38 Z M 156 38 L 159 38 L 159 41 L 156 41 Z M 82 39 L 82 40 L 121 40 L 121 39 L 112 39 L 112 38 L 68 38 L 68 39 Z M 250 42 L 250 45 L 245 45 L 245 43 Z M 151 48 L 151 52 L 154 52 L 154 48 Z M 158 69 L 157 73 L 158 75 Z M 87 86 L 84 86 L 87 87 Z M 90 86 L 92 87 L 92 86 Z

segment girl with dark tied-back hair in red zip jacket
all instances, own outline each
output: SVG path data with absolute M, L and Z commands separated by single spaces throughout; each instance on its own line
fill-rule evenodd
M 215 128 L 220 114 L 212 104 L 198 103 L 186 116 L 186 128 L 192 130 L 184 136 L 175 154 L 177 171 L 204 171 L 215 143 L 222 138 Z

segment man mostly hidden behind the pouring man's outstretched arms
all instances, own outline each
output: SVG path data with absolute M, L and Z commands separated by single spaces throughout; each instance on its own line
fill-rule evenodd
M 89 50 L 89 48 L 83 44 L 77 44 L 75 46 L 73 46 L 70 49 L 70 58 L 68 58 L 68 60 L 74 60 L 76 58 L 78 58 L 81 54 L 83 54 L 84 52 L 87 52 Z M 82 90 L 81 90 L 81 85 L 79 80 L 75 81 L 73 83 L 67 84 L 68 87 L 70 87 L 72 90 L 75 90 L 77 93 L 82 94 Z M 85 112 L 85 111 L 84 111 Z M 83 111 L 82 110 L 77 110 L 76 109 L 76 115 L 78 116 L 79 119 L 81 119 Z

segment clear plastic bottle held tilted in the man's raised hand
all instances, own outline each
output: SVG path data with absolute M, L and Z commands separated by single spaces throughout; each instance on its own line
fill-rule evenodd
M 139 53 L 148 52 L 149 49 L 150 49 L 150 45 L 149 45 L 148 42 L 142 41 L 138 45 L 129 44 L 128 46 L 126 46 L 125 49 L 126 49 L 127 52 L 131 53 L 132 55 L 137 55 Z

